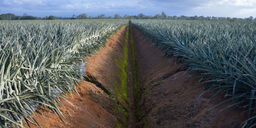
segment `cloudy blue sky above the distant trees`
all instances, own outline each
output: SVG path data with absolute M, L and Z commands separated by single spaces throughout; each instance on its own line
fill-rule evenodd
M 0 0 L 0 14 L 45 17 L 156 15 L 256 17 L 256 0 Z

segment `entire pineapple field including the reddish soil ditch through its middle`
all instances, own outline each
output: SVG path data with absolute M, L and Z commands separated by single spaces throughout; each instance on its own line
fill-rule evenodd
M 0 127 L 256 126 L 254 22 L 0 21 Z

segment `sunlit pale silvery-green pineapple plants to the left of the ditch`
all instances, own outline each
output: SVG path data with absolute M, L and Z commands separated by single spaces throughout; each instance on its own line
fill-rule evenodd
M 104 47 L 109 36 L 125 24 L 97 20 L 1 21 L 0 126 L 22 126 L 21 119 L 35 122 L 28 112 L 34 113 L 31 107 L 38 105 L 51 108 L 61 117 L 57 103 L 61 104 L 65 95 L 60 93 L 77 92 L 76 84 L 85 75 L 85 59 Z

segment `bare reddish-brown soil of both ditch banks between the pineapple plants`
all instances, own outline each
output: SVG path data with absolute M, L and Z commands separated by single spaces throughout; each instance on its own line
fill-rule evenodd
M 128 29 L 129 38 L 126 36 Z M 134 41 L 134 59 L 131 57 L 131 40 Z M 128 56 L 126 60 L 125 54 Z M 119 60 L 128 63 L 124 66 L 128 79 L 126 88 L 119 87 L 123 81 Z M 106 47 L 87 61 L 90 65 L 86 67 L 86 74 L 91 82 L 80 83 L 80 97 L 77 94 L 68 97 L 72 105 L 62 100 L 72 117 L 63 108 L 63 122 L 52 111 L 47 110 L 45 115 L 36 111 L 40 127 L 224 128 L 241 127 L 242 121 L 246 120 L 246 113 L 241 114 L 244 110 L 223 110 L 228 103 L 210 109 L 225 100 L 224 95 L 208 99 L 212 93 L 209 92 L 200 96 L 205 86 L 197 83 L 196 75 L 185 73 L 182 62 L 175 64 L 170 57 L 163 57 L 163 52 L 133 26 L 122 27 L 111 36 Z M 133 81 L 134 69 L 136 83 Z M 137 84 L 136 89 L 134 84 Z M 122 89 L 127 91 L 123 93 Z M 38 128 L 33 124 L 30 126 Z

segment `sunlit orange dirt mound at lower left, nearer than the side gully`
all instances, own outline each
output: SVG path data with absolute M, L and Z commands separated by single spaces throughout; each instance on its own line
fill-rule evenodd
M 95 99 L 102 99 L 106 102 L 113 102 L 112 98 L 108 97 L 100 88 L 96 87 L 90 82 L 82 82 L 81 87 L 78 88 L 80 97 L 76 94 L 70 96 L 68 101 L 63 101 L 63 105 L 69 111 L 70 115 L 61 108 L 65 119 L 62 122 L 54 112 L 46 110 L 45 116 L 38 111 L 37 122 L 43 128 L 85 128 L 85 127 L 114 127 L 116 125 L 116 118 L 107 112 Z M 41 111 L 43 111 L 41 109 Z M 32 128 L 38 126 L 30 125 Z

